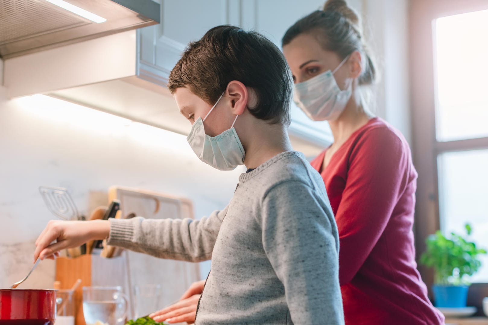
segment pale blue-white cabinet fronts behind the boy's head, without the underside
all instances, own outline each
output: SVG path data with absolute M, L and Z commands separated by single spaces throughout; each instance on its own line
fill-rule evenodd
M 256 30 L 281 47 L 286 29 L 323 3 L 323 0 L 161 0 L 162 23 L 138 30 L 138 75 L 165 87 L 186 44 L 222 24 Z M 327 122 L 311 121 L 295 104 L 291 110 L 291 136 L 323 147 L 332 142 Z

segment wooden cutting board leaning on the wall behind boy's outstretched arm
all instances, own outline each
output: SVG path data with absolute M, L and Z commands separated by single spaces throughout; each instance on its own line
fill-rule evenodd
M 151 219 L 194 218 L 189 199 L 165 193 L 113 186 L 108 192 L 109 201 L 118 199 L 121 213 L 117 217 L 142 216 Z M 159 259 L 142 253 L 124 251 L 129 274 L 129 298 L 133 302 L 135 285 L 159 284 L 163 293 L 161 308 L 178 300 L 184 291 L 200 279 L 197 263 Z M 131 303 L 132 313 L 134 313 Z

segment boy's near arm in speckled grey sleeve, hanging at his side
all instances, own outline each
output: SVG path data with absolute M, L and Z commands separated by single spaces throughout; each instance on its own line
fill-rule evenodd
M 337 229 L 326 198 L 302 182 L 281 183 L 263 199 L 262 229 L 293 323 L 344 324 Z

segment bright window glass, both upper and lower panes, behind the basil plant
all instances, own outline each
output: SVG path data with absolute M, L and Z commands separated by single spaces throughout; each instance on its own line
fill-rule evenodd
M 488 150 L 455 142 L 488 136 L 486 31 L 488 10 L 433 23 L 435 134 L 454 144 L 437 155 L 440 228 L 464 234 L 469 222 L 472 239 L 488 248 Z M 471 280 L 488 283 L 488 257 Z

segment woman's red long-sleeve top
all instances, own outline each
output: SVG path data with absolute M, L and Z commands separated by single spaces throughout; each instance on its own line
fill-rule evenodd
M 346 325 L 438 325 L 415 262 L 417 172 L 403 135 L 381 118 L 354 132 L 321 173 L 339 229 Z

